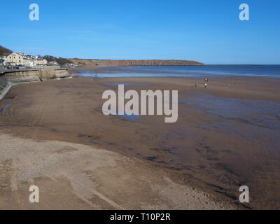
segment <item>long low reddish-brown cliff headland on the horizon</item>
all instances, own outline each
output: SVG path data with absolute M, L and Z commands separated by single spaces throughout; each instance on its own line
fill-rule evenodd
M 174 66 L 174 65 L 204 65 L 201 62 L 188 60 L 111 60 L 111 59 L 69 59 L 79 66 Z

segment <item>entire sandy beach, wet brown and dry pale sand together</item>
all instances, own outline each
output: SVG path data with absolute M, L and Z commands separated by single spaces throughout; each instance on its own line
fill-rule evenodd
M 165 123 L 164 116 L 104 116 L 102 93 L 117 91 L 121 83 L 125 90 L 137 92 L 179 90 L 178 122 Z M 85 202 L 90 209 L 110 209 L 112 203 L 109 206 L 108 202 L 120 206 L 114 209 L 279 209 L 279 86 L 280 80 L 274 78 L 234 76 L 209 78 L 207 88 L 202 78 L 180 77 L 84 77 L 17 85 L 0 102 L 1 109 L 8 105 L 0 116 L 1 143 L 24 142 L 32 146 L 27 155 L 38 156 L 20 165 L 22 160 L 13 160 L 23 153 L 20 147 L 7 149 L 19 144 L 7 145 L 1 147 L 6 152 L 1 167 L 13 170 L 13 161 L 20 165 L 17 181 L 22 186 L 28 179 L 45 186 L 54 184 L 57 190 L 67 186 L 74 194 L 65 195 L 68 204 L 73 204 L 70 201 L 77 195 L 82 199 L 94 195 L 83 196 L 83 190 L 73 187 L 75 181 L 88 184 L 88 189 L 97 191 L 91 197 L 96 201 L 90 200 L 93 207 Z M 51 147 L 48 142 L 67 147 Z M 41 157 L 40 153 L 47 154 Z M 57 164 L 48 161 L 48 153 L 55 160 L 64 155 L 62 166 L 49 172 L 32 171 L 30 167 L 40 160 L 50 167 Z M 103 165 L 106 156 L 109 159 L 104 159 Z M 25 174 L 27 167 L 29 175 Z M 1 181 L 6 178 L 2 175 Z M 159 182 L 155 181 L 158 186 L 151 196 L 146 187 L 151 188 L 153 179 Z M 250 188 L 251 200 L 240 204 L 239 186 L 244 185 Z M 172 198 L 176 200 L 167 197 L 175 193 Z M 98 195 L 104 195 L 102 203 L 109 199 L 107 204 L 102 206 Z M 193 196 L 203 203 L 191 201 Z M 139 197 L 142 206 L 134 204 Z M 75 206 L 67 209 L 79 204 Z

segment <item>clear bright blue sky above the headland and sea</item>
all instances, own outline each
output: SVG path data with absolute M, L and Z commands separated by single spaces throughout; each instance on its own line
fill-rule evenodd
M 40 20 L 29 20 L 29 4 Z M 239 5 L 250 21 L 239 20 Z M 279 0 L 1 1 L 0 45 L 96 59 L 280 64 Z

